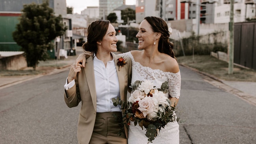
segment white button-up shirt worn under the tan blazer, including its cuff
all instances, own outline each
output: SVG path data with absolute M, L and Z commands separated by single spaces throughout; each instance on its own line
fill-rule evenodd
M 115 107 L 112 98 L 120 98 L 119 81 L 114 59 L 108 61 L 105 67 L 103 61 L 96 56 L 93 59 L 95 87 L 97 97 L 97 113 L 121 111 L 120 106 Z M 74 86 L 74 80 L 64 85 L 65 89 Z

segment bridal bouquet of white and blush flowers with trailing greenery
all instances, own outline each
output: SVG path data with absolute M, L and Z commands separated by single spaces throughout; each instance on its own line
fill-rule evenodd
M 154 89 L 151 81 L 135 81 L 131 86 L 132 92 L 127 103 L 112 99 L 113 105 L 121 105 L 125 109 L 123 122 L 130 125 L 134 122 L 141 129 L 146 129 L 148 143 L 152 142 L 168 122 L 174 122 L 176 115 L 171 101 L 165 96 L 168 92 L 168 82 L 161 85 L 161 89 Z M 178 120 L 178 119 L 177 119 Z

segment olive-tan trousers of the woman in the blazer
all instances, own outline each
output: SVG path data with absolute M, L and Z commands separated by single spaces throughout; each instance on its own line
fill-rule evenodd
M 89 144 L 127 144 L 127 138 L 124 134 L 120 137 L 117 135 L 120 131 L 119 124 L 122 121 L 117 121 L 113 114 L 122 117 L 121 112 L 96 114 L 93 134 Z

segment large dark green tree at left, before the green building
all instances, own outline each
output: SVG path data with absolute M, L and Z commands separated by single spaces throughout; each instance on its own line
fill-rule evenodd
M 48 0 L 43 4 L 24 5 L 20 22 L 13 31 L 13 39 L 24 51 L 28 67 L 36 69 L 39 61 L 49 57 L 47 50 L 53 47 L 52 41 L 65 33 L 67 28 L 62 17 L 54 16 Z

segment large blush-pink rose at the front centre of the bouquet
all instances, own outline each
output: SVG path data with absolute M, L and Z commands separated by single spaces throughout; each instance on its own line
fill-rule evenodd
M 154 108 L 154 102 L 152 101 L 152 99 L 150 99 L 149 97 L 145 97 L 142 100 L 140 100 L 138 102 L 139 104 L 139 111 L 141 111 L 144 115 L 144 117 L 147 116 L 148 113 L 152 113 L 153 112 L 153 108 Z

